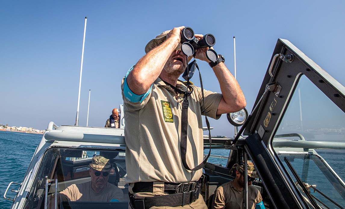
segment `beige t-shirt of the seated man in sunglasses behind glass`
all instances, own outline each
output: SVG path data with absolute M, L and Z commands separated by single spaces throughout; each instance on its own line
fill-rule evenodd
M 95 201 L 95 202 L 110 202 L 112 199 L 121 200 L 124 197 L 124 192 L 120 188 L 107 182 L 107 185 L 99 193 L 96 193 L 91 188 L 91 181 L 72 184 L 65 190 L 58 193 L 59 202 L 62 201 Z

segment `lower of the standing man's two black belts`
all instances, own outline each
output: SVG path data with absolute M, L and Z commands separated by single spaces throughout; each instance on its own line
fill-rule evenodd
M 154 197 L 134 197 L 128 193 L 131 207 L 135 209 L 149 209 L 151 207 L 175 207 L 188 205 L 199 198 L 199 186 L 193 191 Z

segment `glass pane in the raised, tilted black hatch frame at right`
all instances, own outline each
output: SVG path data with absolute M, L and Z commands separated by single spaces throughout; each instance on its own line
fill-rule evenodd
M 274 105 L 273 102 L 271 108 Z M 345 113 L 302 75 L 272 145 L 286 175 L 309 205 L 313 200 L 305 195 L 302 186 L 321 208 L 345 205 L 344 124 Z M 304 185 L 297 183 L 287 163 L 291 163 Z

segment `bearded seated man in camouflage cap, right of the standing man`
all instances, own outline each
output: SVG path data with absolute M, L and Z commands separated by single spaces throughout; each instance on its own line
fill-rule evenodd
M 248 162 L 248 206 L 252 209 L 265 208 L 262 202 L 260 191 L 252 185 L 252 181 L 259 176 L 256 173 L 254 164 Z M 212 203 L 212 209 L 244 209 L 245 206 L 242 201 L 242 188 L 244 184 L 244 169 L 243 165 L 239 166 L 235 164 L 233 169 L 236 170 L 236 177 L 233 181 L 224 183 L 218 187 L 215 191 L 214 201 Z M 231 169 L 231 170 L 233 170 Z M 210 200 L 212 201 L 212 200 Z

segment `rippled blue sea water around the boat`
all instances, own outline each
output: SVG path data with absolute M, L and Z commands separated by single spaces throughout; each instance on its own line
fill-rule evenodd
M 11 181 L 21 183 L 27 171 L 31 158 L 42 135 L 33 133 L 0 131 L 0 209 L 8 209 L 12 201 L 5 200 L 3 194 Z M 229 156 L 230 150 L 213 149 L 211 155 Z M 207 155 L 208 150 L 204 153 Z M 339 177 L 345 179 L 344 153 L 319 153 L 327 163 L 337 172 Z M 227 159 L 210 157 L 209 162 L 226 166 Z M 325 179 L 320 179 L 324 181 Z M 11 188 L 19 188 L 11 185 Z M 10 189 L 9 189 L 10 190 Z M 15 193 L 8 191 L 6 197 L 13 198 Z

